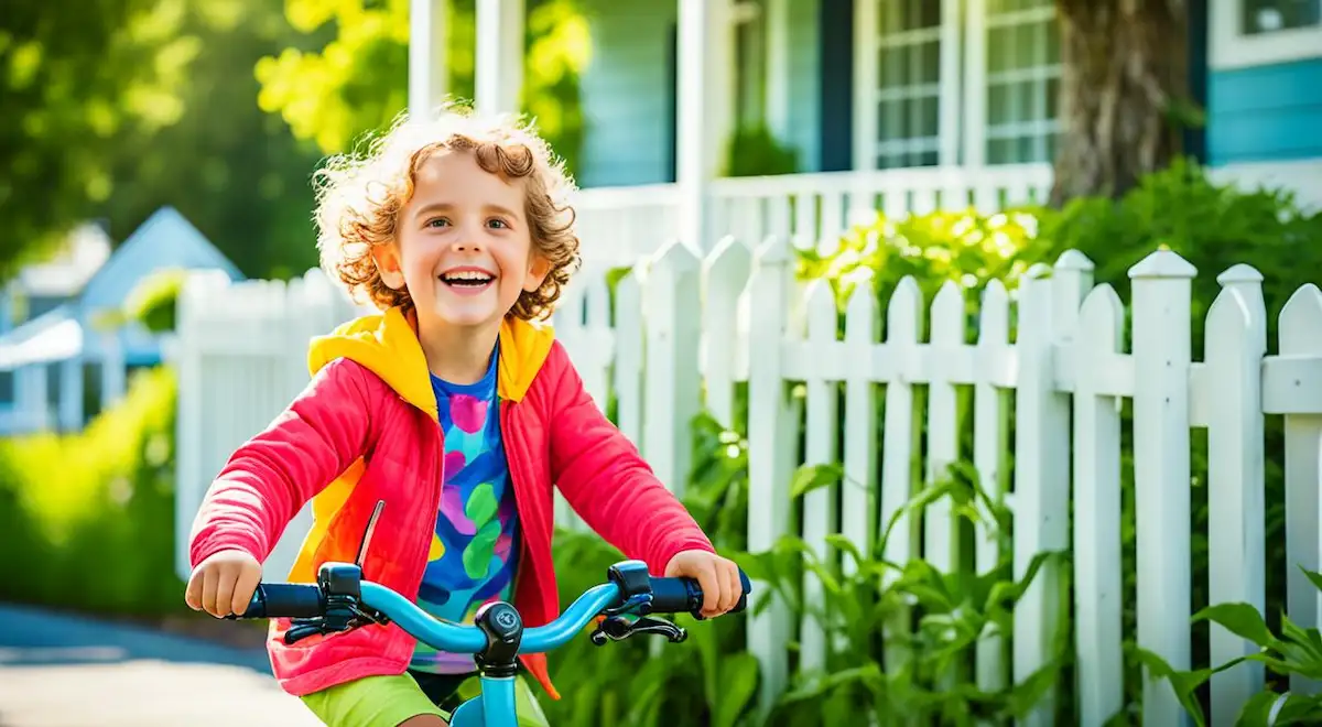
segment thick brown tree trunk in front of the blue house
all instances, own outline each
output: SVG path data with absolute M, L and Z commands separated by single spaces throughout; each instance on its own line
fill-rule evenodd
M 1185 0 L 1056 0 L 1060 119 L 1051 204 L 1122 196 L 1182 152 L 1188 108 Z

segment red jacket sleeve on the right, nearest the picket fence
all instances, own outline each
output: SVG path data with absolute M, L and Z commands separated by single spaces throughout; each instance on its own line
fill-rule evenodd
M 683 505 L 598 408 L 563 349 L 553 356 L 563 364 L 549 412 L 551 477 L 574 510 L 653 575 L 662 575 L 680 551 L 714 553 Z

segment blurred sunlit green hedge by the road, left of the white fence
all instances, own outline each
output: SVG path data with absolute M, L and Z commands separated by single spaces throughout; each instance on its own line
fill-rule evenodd
M 0 579 L 0 600 L 134 616 L 181 609 L 175 391 L 171 370 L 144 370 L 82 432 L 0 441 L 0 549 L 22 554 Z

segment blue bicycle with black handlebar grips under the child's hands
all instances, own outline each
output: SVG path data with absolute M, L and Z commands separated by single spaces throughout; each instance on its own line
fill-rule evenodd
M 743 595 L 731 613 L 748 605 L 752 586 L 739 571 Z M 554 621 L 524 629 L 513 605 L 494 601 L 477 611 L 473 625 L 434 619 L 398 592 L 362 580 L 353 563 L 325 563 L 317 583 L 262 583 L 249 607 L 235 619 L 291 619 L 284 634 L 293 644 L 315 634 L 344 632 L 394 621 L 419 641 L 449 653 L 475 654 L 481 693 L 451 715 L 451 727 L 517 727 L 514 677 L 518 654 L 555 650 L 602 616 L 591 633 L 603 646 L 635 634 L 665 636 L 678 644 L 687 631 L 653 613 L 687 612 L 702 620 L 702 588 L 687 578 L 653 578 L 641 560 L 621 560 L 607 568 L 607 582 L 588 588 Z M 632 616 L 632 619 L 631 619 Z

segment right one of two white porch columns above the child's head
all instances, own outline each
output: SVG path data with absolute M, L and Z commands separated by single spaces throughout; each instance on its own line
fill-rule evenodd
M 517 114 L 524 90 L 524 0 L 477 0 L 477 89 L 483 114 Z

